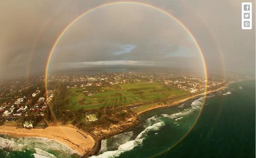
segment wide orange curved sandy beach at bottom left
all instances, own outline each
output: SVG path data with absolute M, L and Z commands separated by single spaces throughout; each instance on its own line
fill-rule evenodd
M 68 145 L 73 150 L 77 151 L 77 154 L 83 155 L 88 150 L 94 147 L 94 139 L 87 133 L 79 130 L 87 138 L 82 136 L 81 133 L 77 132 L 77 129 L 66 127 L 66 126 L 49 126 L 46 129 L 25 129 L 8 126 L 0 126 L 0 133 L 9 134 L 13 137 L 24 137 L 24 136 L 37 136 L 45 137 L 48 139 L 54 139 L 60 143 Z

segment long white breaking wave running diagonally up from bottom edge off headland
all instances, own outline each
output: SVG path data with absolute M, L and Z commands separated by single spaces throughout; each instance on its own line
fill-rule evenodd
M 163 121 L 161 121 L 159 118 L 157 118 L 157 116 L 153 116 L 145 121 L 145 125 L 149 125 L 149 126 L 146 127 L 141 133 L 139 133 L 139 135 L 134 140 L 130 140 L 130 141 L 125 142 L 124 144 L 121 144 L 117 148 L 117 150 L 106 151 L 100 155 L 91 156 L 91 158 L 115 158 L 115 157 L 118 157 L 123 152 L 132 150 L 132 149 L 134 149 L 134 147 L 138 147 L 138 146 L 142 145 L 142 142 L 145 139 L 145 137 L 148 135 L 149 131 L 157 131 L 162 126 L 164 126 L 165 123 Z M 123 133 L 123 134 L 125 134 L 125 133 Z

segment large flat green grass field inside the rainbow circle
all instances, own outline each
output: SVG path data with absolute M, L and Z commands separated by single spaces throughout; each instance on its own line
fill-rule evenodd
M 122 106 L 134 103 L 145 103 L 165 98 L 188 94 L 186 91 L 169 88 L 160 83 L 138 82 L 102 87 L 93 96 L 86 96 L 86 89 L 67 89 L 65 94 L 66 107 L 75 110 L 80 108 L 102 108 L 105 106 Z

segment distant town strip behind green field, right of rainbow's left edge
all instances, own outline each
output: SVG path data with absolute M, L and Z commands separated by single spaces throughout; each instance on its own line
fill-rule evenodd
M 56 81 L 70 83 L 67 88 L 78 88 L 89 86 L 109 86 L 124 83 L 135 83 L 140 81 L 151 81 L 163 83 L 171 87 L 191 93 L 201 91 L 205 88 L 205 80 L 203 78 L 195 78 L 185 75 L 168 74 L 168 73 L 145 73 L 145 72 L 123 72 L 102 75 L 85 75 L 85 76 L 69 76 L 69 75 L 49 75 L 48 82 Z M 208 81 L 208 87 L 223 84 L 223 79 L 213 78 Z

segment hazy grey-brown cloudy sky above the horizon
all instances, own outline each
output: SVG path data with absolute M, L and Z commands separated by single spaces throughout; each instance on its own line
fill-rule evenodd
M 43 73 L 62 30 L 110 0 L 12 0 L 0 5 L 0 80 Z M 209 72 L 255 74 L 255 25 L 241 29 L 242 0 L 138 0 L 179 19 L 199 43 Z M 253 6 L 255 3 L 253 2 Z M 255 19 L 255 10 L 253 10 Z M 57 43 L 49 71 L 105 65 L 203 69 L 189 33 L 145 6 L 118 4 L 92 11 Z

